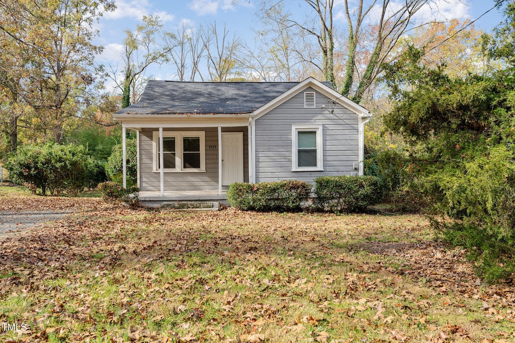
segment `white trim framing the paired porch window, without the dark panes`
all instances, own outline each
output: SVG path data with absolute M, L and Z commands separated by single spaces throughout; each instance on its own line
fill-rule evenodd
M 198 173 L 205 172 L 205 131 L 163 131 L 164 137 L 175 137 L 175 169 L 165 168 L 163 172 L 181 172 L 181 173 Z M 183 137 L 200 137 L 200 168 L 183 169 L 182 168 L 182 138 Z M 159 173 L 158 169 L 158 145 L 159 131 L 152 132 L 152 171 Z

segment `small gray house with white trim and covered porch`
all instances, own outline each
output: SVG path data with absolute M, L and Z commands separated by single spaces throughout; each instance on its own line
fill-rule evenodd
M 124 148 L 126 129 L 136 131 L 143 201 L 223 200 L 234 182 L 362 175 L 367 118 L 313 78 L 150 80 L 138 103 L 114 114 Z

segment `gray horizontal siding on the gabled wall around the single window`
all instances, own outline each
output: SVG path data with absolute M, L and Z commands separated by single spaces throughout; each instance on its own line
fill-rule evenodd
M 256 182 L 297 179 L 313 182 L 322 175 L 351 175 L 358 162 L 358 118 L 315 92 L 315 108 L 304 108 L 304 92 L 255 120 Z M 325 110 L 321 107 L 325 105 Z M 334 107 L 334 113 L 329 109 Z M 323 171 L 291 171 L 291 125 L 322 124 Z

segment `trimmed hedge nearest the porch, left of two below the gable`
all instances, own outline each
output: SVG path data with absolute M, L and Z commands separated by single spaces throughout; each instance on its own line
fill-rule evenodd
M 298 180 L 234 183 L 229 186 L 227 200 L 232 207 L 242 210 L 298 210 L 307 201 L 312 186 Z

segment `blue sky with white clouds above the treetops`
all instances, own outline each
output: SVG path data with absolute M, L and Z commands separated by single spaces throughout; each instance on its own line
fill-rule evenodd
M 227 25 L 231 32 L 236 32 L 239 38 L 251 45 L 254 41 L 253 29 L 261 25 L 256 16 L 256 3 L 260 0 L 115 0 L 117 9 L 102 17 L 97 28 L 100 35 L 97 44 L 105 47 L 99 61 L 116 65 L 119 61 L 124 30 L 135 29 L 143 15 L 159 15 L 165 29 L 173 31 L 186 21 L 192 25 L 213 23 Z M 393 0 L 392 4 L 402 3 L 403 0 Z M 289 0 L 288 10 L 301 14 L 301 0 Z M 352 3 L 352 0 L 350 1 Z M 493 6 L 493 0 L 433 0 L 431 6 L 426 6 L 417 14 L 417 19 L 428 17 L 438 20 L 450 19 L 476 19 L 479 15 Z M 335 27 L 346 27 L 345 16 L 342 15 L 342 1 L 335 1 Z M 438 10 L 437 10 L 438 9 Z M 497 9 L 485 14 L 475 23 L 475 27 L 484 31 L 490 31 L 502 20 L 502 14 Z M 166 66 L 161 68 L 153 66 L 148 70 L 147 76 L 152 75 L 156 79 L 172 78 L 167 73 Z

